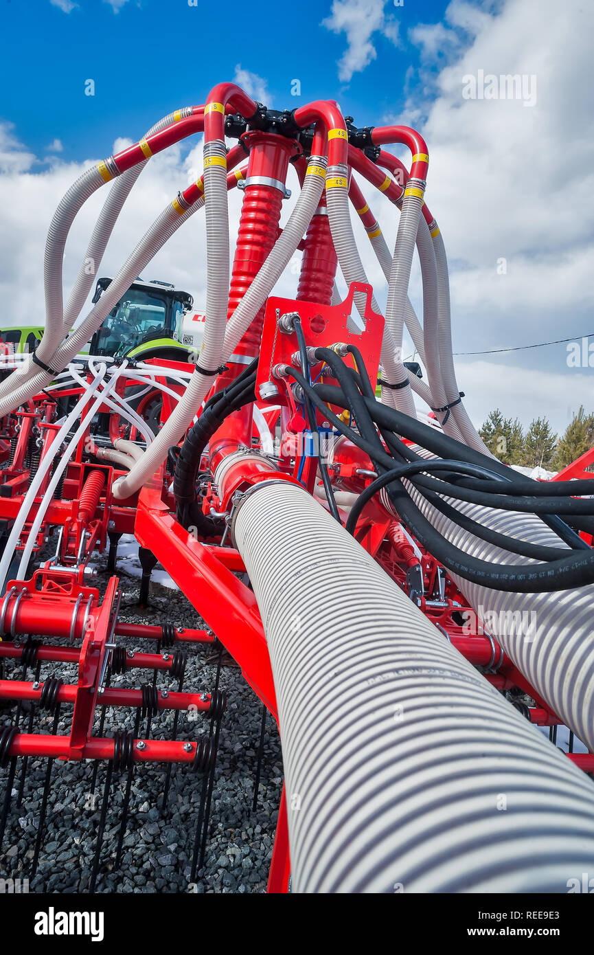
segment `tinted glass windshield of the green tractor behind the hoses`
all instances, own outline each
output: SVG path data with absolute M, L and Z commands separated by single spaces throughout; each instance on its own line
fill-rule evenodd
M 130 288 L 99 329 L 95 354 L 128 354 L 143 342 L 170 337 L 170 324 L 166 299 Z

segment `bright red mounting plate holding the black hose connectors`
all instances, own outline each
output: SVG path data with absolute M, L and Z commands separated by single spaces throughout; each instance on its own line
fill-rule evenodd
M 347 327 L 351 312 L 353 309 L 356 311 L 353 304 L 355 292 L 362 292 L 366 296 L 365 329 L 361 332 L 350 331 Z M 371 308 L 371 295 L 371 286 L 363 282 L 352 282 L 345 301 L 335 306 L 319 305 L 317 302 L 300 302 L 295 299 L 269 298 L 266 303 L 260 364 L 256 379 L 256 394 L 259 398 L 260 386 L 266 381 L 275 381 L 272 377 L 274 366 L 279 363 L 291 365 L 292 355 L 298 350 L 295 332 L 287 334 L 277 329 L 277 316 L 285 315 L 289 311 L 298 312 L 308 346 L 329 348 L 337 342 L 356 345 L 363 355 L 374 387 L 384 337 L 384 317 Z M 358 313 L 357 319 L 360 321 Z M 315 366 L 312 367 L 312 374 L 317 373 L 320 368 L 321 365 L 317 367 L 317 370 Z M 268 399 L 270 404 L 286 404 L 285 390 L 281 388 L 279 391 L 280 396 Z

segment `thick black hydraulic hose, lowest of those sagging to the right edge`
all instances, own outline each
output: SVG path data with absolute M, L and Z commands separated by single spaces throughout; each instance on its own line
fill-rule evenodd
M 309 387 L 303 375 L 295 369 L 291 369 L 290 373 L 304 389 L 304 392 L 310 394 L 314 405 L 326 415 L 337 431 L 349 436 L 372 459 L 377 457 L 384 467 L 389 470 L 392 468 L 393 458 L 383 450 L 380 455 L 374 442 L 367 440 L 364 435 L 353 434 L 351 429 L 344 425 L 337 415 L 329 411 L 320 394 L 316 392 L 316 389 L 320 386 Z M 339 401 L 335 400 L 333 403 L 340 404 Z M 392 485 L 392 488 L 394 488 L 394 485 Z M 420 513 L 400 482 L 392 489 L 391 497 L 396 512 L 416 540 L 420 541 L 437 561 L 448 567 L 453 573 L 474 584 L 510 592 L 541 593 L 594 583 L 594 552 L 591 548 L 587 549 L 587 553 L 572 551 L 568 557 L 562 560 L 538 565 L 492 564 L 480 561 L 446 541 L 435 530 L 433 524 Z

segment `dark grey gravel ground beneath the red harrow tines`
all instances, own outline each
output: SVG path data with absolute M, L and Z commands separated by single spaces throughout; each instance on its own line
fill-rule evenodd
M 130 568 L 132 570 L 132 568 Z M 176 626 L 205 626 L 192 605 L 179 590 L 152 584 L 151 606 L 138 608 L 138 577 L 128 574 L 126 562 L 118 566 L 122 588 L 120 619 L 146 624 L 172 623 Z M 107 575 L 100 570 L 97 582 L 101 589 Z M 95 582 L 94 582 L 95 583 Z M 154 652 L 149 641 L 134 642 L 117 638 L 130 649 Z M 60 641 L 53 641 L 59 644 Z M 63 641 L 66 644 L 66 641 Z M 188 647 L 187 644 L 183 648 Z M 214 688 L 216 659 L 212 647 L 190 648 L 184 690 L 209 691 Z M 10 661 L 7 677 L 22 678 L 20 666 Z M 44 664 L 41 679 L 61 675 L 65 682 L 74 682 L 73 666 Z M 29 671 L 28 679 L 32 679 Z M 131 669 L 112 679 L 112 686 L 139 687 L 150 682 L 152 673 Z M 159 673 L 160 688 L 177 689 L 168 674 Z M 227 710 L 223 715 L 216 765 L 212 809 L 204 865 L 198 881 L 190 882 L 190 862 L 202 790 L 202 776 L 192 775 L 185 767 L 175 767 L 171 777 L 166 811 L 161 811 L 165 770 L 158 764 L 137 766 L 133 776 L 132 797 L 124 854 L 119 869 L 115 867 L 120 810 L 126 774 L 114 775 L 109 799 L 101 862 L 96 892 L 265 892 L 266 879 L 274 841 L 276 817 L 283 783 L 283 764 L 278 732 L 272 719 L 266 720 L 264 759 L 258 806 L 252 812 L 254 776 L 262 721 L 260 701 L 244 682 L 239 668 L 223 666 L 221 689 L 227 693 Z M 0 726 L 9 721 L 13 710 L 0 710 Z M 51 732 L 53 717 L 33 711 L 33 732 Z M 64 718 L 58 733 L 67 733 L 72 708 L 63 706 Z M 136 711 L 112 708 L 106 710 L 103 734 L 113 735 L 119 728 L 132 730 Z M 26 724 L 29 714 L 21 717 Z M 151 736 L 171 738 L 171 713 L 159 713 L 153 720 Z M 143 727 L 145 724 L 141 724 Z M 143 730 L 140 730 L 142 734 Z M 194 720 L 180 712 L 178 738 L 196 739 L 208 732 L 208 722 L 198 714 Z M 98 734 L 98 715 L 95 720 Z M 12 786 L 19 787 L 22 760 Z M 95 835 L 100 815 L 106 765 L 99 764 L 95 800 L 91 795 L 93 763 L 80 764 L 53 761 L 52 788 L 43 844 L 37 873 L 31 879 L 31 865 L 43 786 L 48 762 L 29 761 L 23 800 L 17 805 L 13 796 L 0 851 L 0 879 L 29 878 L 31 892 L 86 892 L 89 890 L 91 866 L 95 854 Z M 0 808 L 3 804 L 7 772 L 0 772 Z

